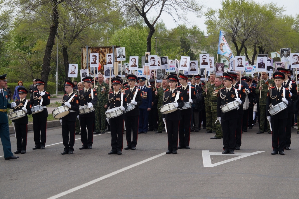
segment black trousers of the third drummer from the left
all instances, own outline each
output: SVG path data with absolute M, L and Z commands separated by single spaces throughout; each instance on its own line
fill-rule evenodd
M 62 129 L 62 141 L 64 145 L 64 151 L 74 151 L 76 122 L 62 120 L 61 123 L 62 123 L 61 129 Z M 70 134 L 69 142 L 68 142 L 68 134 Z

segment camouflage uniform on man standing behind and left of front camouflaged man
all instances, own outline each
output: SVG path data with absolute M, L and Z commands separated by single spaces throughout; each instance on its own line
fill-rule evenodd
M 212 113 L 211 113 L 211 96 L 214 92 L 215 85 L 211 85 L 211 82 L 207 83 L 207 94 L 205 91 L 202 92 L 203 97 L 205 97 L 205 111 L 206 111 L 206 128 L 207 132 L 216 131 L 212 129 Z

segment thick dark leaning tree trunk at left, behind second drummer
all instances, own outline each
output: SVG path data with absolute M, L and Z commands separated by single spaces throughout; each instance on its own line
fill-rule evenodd
M 53 5 L 52 7 L 53 21 L 52 21 L 52 25 L 50 26 L 50 34 L 46 45 L 45 55 L 42 63 L 42 73 L 41 73 L 41 79 L 46 82 L 45 89 L 48 86 L 48 76 L 51 70 L 50 60 L 51 60 L 52 49 L 55 44 L 55 37 L 57 33 L 58 19 L 59 19 L 57 0 L 52 0 L 52 5 Z

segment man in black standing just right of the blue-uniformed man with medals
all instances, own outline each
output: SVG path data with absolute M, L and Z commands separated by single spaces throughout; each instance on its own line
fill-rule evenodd
M 157 123 L 157 116 L 158 116 L 158 99 L 159 95 L 158 92 L 155 94 L 156 91 L 158 91 L 158 87 L 155 87 L 155 79 L 150 79 L 149 83 L 151 85 L 152 90 L 152 107 L 149 111 L 149 128 L 147 131 L 157 131 L 158 123 Z

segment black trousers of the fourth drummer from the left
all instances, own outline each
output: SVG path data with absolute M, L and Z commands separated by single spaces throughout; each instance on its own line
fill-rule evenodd
M 80 117 L 79 115 L 79 120 L 80 120 L 80 126 L 81 126 L 81 142 L 82 146 L 92 146 L 93 143 L 93 121 L 94 117 Z M 86 126 L 87 126 L 87 131 L 86 132 Z M 86 138 L 86 135 L 88 133 L 88 137 Z

